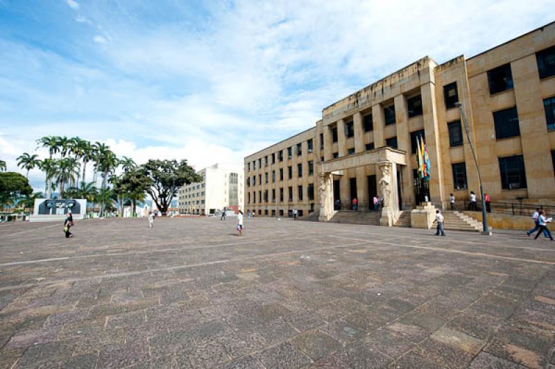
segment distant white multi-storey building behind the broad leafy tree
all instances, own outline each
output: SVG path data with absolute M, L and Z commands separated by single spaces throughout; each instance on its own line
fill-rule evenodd
M 243 209 L 242 169 L 214 164 L 196 173 L 202 176 L 202 182 L 186 184 L 179 189 L 180 214 L 217 214 L 224 207 Z

